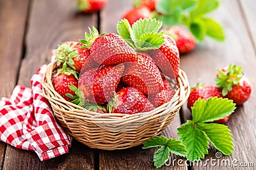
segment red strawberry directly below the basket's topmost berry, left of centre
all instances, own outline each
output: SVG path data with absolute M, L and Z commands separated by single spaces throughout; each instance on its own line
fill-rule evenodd
M 124 64 L 100 66 L 81 74 L 78 87 L 87 102 L 105 104 L 113 96 L 124 71 Z

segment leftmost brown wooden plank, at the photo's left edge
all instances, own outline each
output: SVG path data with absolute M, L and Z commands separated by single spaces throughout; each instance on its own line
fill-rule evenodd
M 17 81 L 29 0 L 0 1 L 0 97 L 10 97 Z M 13 6 L 19 10 L 13 10 Z M 6 145 L 0 142 L 0 169 Z

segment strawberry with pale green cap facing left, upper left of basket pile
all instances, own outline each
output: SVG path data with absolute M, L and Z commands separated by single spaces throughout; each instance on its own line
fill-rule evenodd
M 57 65 L 65 64 L 80 72 L 85 62 L 93 62 L 90 56 L 89 48 L 81 48 L 83 43 L 75 41 L 66 41 L 58 46 L 56 50 Z M 86 61 L 87 60 L 87 61 Z

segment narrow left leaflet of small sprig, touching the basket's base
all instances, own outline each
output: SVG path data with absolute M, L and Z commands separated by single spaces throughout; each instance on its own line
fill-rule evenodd
M 143 149 L 152 148 L 156 146 L 166 146 L 168 139 L 164 136 L 156 136 L 155 138 L 150 138 L 143 143 Z

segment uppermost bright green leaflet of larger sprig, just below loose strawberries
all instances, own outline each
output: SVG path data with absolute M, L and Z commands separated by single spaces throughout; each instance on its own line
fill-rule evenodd
M 193 122 L 212 122 L 234 112 L 236 104 L 227 98 L 198 99 L 192 107 Z

